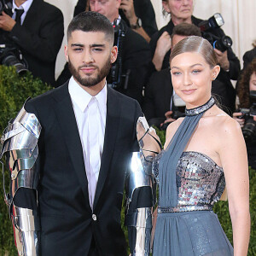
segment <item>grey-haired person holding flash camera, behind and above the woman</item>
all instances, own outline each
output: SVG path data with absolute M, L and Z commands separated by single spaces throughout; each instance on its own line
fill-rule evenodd
M 151 55 L 154 68 L 157 71 L 169 67 L 169 56 L 171 53 L 171 35 L 174 26 L 183 22 L 200 26 L 204 20 L 193 16 L 193 0 L 162 0 L 164 12 L 171 15 L 170 22 L 156 32 L 150 41 Z M 207 38 L 224 38 L 224 31 L 219 28 L 212 28 L 207 31 Z M 203 37 L 205 37 L 203 35 Z M 240 61 L 234 54 L 231 47 L 227 49 L 214 49 L 221 67 L 218 78 L 212 83 L 212 95 L 218 98 L 218 102 L 224 107 L 227 113 L 235 110 L 236 90 L 230 79 L 238 79 L 240 72 Z

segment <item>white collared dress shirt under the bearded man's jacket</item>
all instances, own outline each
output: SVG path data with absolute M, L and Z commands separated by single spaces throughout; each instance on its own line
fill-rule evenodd
M 69 80 L 68 91 L 71 96 L 73 103 L 73 110 L 75 113 L 77 125 L 79 128 L 79 136 L 83 147 L 84 154 L 84 166 L 85 172 L 88 180 L 88 192 L 90 199 L 90 207 L 93 206 L 94 196 L 96 192 L 96 184 L 99 177 L 102 150 L 104 144 L 105 127 L 106 127 L 106 117 L 107 117 L 107 84 L 103 89 L 96 95 L 90 96 L 83 88 L 77 84 L 73 77 Z M 92 99 L 94 98 L 94 99 Z M 90 102 L 97 102 L 98 110 L 96 113 L 90 113 Z M 99 148 L 99 154 L 91 150 L 89 134 L 89 122 L 96 122 L 93 125 L 97 127 L 97 142 Z M 71 135 L 72 136 L 72 135 Z M 90 154 L 93 153 L 94 161 L 91 163 Z

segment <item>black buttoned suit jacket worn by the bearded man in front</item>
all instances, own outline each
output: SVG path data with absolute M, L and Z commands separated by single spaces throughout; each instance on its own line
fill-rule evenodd
M 92 237 L 100 255 L 126 255 L 120 210 L 128 161 L 131 152 L 137 150 L 136 125 L 142 114 L 138 103 L 108 88 L 93 210 L 67 83 L 26 102 L 25 108 L 35 113 L 42 125 L 37 160 L 42 255 L 88 255 Z

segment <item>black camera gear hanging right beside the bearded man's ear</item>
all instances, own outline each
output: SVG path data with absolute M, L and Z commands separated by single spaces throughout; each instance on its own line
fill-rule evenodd
M 108 74 L 108 86 L 112 87 L 115 90 L 127 90 L 131 70 L 128 69 L 126 73 L 123 73 L 122 69 L 123 41 L 125 39 L 126 33 L 125 26 L 123 26 L 121 22 L 119 23 L 119 25 L 117 25 L 117 20 L 114 20 L 113 32 L 113 45 L 117 46 L 119 54 L 116 61 L 114 61 L 114 63 L 112 64 L 110 73 Z

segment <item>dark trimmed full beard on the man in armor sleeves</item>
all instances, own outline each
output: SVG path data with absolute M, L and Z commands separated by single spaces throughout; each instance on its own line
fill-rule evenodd
M 96 68 L 96 71 L 98 71 L 98 73 L 96 74 L 96 77 L 90 77 L 90 75 L 88 75 L 85 78 L 82 78 L 79 74 L 79 70 L 80 68 L 83 67 L 94 67 Z M 95 65 L 83 65 L 83 66 L 79 66 L 78 69 L 76 69 L 71 61 L 68 61 L 68 68 L 70 73 L 72 73 L 73 78 L 79 82 L 79 84 L 85 86 L 85 87 L 92 87 L 96 84 L 99 84 L 103 79 L 105 79 L 105 77 L 108 76 L 109 70 L 111 68 L 111 55 L 109 55 L 108 60 L 106 61 L 106 63 L 104 64 L 104 66 L 102 67 L 102 69 L 99 69 L 99 67 L 95 66 Z

